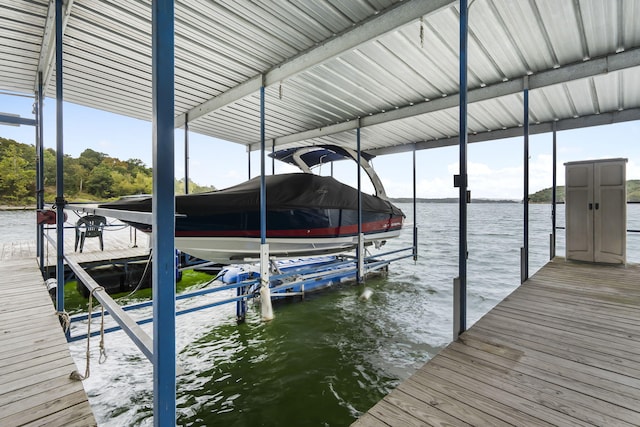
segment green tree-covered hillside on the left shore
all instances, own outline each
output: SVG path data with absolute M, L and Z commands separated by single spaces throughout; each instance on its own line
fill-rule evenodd
M 56 194 L 56 151 L 46 148 L 44 158 L 45 201 Z M 120 160 L 87 148 L 78 158 L 64 156 L 64 195 L 69 201 L 108 200 L 152 191 L 152 169 L 140 159 Z M 189 192 L 213 190 L 190 180 Z M 36 149 L 0 137 L 0 204 L 33 205 L 36 191 Z M 176 180 L 176 192 L 184 192 L 184 179 Z

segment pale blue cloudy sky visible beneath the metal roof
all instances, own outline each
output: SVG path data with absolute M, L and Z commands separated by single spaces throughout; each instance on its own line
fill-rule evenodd
M 0 94 L 0 112 L 33 117 L 32 98 Z M 45 102 L 45 147 L 55 148 L 55 101 Z M 77 157 L 91 148 L 123 160 L 141 159 L 151 166 L 151 123 L 104 111 L 64 105 L 64 151 Z M 26 144 L 35 143 L 35 130 L 29 126 L 0 125 L 0 136 Z M 184 175 L 184 132 L 176 131 L 176 166 L 178 178 Z M 470 144 L 468 148 L 469 189 L 474 198 L 521 199 L 523 195 L 523 139 Z M 640 179 L 640 122 L 598 126 L 557 133 L 558 184 L 564 184 L 567 161 L 625 157 L 627 178 Z M 534 135 L 529 140 L 530 192 L 550 187 L 552 175 L 552 135 Z M 190 177 L 200 185 L 225 188 L 248 177 L 244 146 L 190 133 Z M 423 150 L 417 153 L 418 197 L 457 197 L 453 175 L 458 173 L 458 147 Z M 259 173 L 259 154 L 252 153 L 252 176 Z M 387 194 L 391 197 L 412 195 L 411 153 L 380 156 L 373 160 Z M 271 171 L 270 161 L 267 173 Z M 276 162 L 276 173 L 293 171 Z M 322 174 L 328 174 L 325 166 Z M 334 175 L 355 186 L 354 163 L 336 164 Z M 363 182 L 366 179 L 363 178 Z M 368 183 L 367 183 L 368 184 Z M 371 191 L 370 185 L 364 185 Z

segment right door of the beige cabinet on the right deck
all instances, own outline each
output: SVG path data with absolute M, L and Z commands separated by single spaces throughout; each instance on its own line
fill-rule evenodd
M 627 191 L 623 162 L 601 162 L 594 167 L 594 260 L 626 262 Z

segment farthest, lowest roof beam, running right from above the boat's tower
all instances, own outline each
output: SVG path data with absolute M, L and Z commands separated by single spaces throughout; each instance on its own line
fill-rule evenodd
M 571 129 L 580 129 L 591 126 L 603 126 L 603 125 L 611 125 L 615 123 L 624 123 L 640 120 L 640 108 L 631 108 L 628 110 L 622 111 L 612 111 L 608 113 L 601 114 L 592 114 L 589 116 L 582 116 L 576 119 L 563 119 L 552 122 L 544 122 L 535 125 L 529 125 L 529 135 L 538 135 L 542 133 L 553 132 L 554 124 L 556 126 L 557 131 L 563 130 L 571 130 Z M 477 134 L 469 135 L 468 142 L 485 142 L 485 141 L 493 141 L 496 139 L 506 139 L 506 138 L 514 138 L 522 136 L 522 127 L 517 126 L 508 129 L 500 129 L 494 130 L 491 132 L 482 132 Z M 446 138 L 446 139 L 436 139 L 432 141 L 417 141 L 410 142 L 407 144 L 396 145 L 393 147 L 385 147 L 385 148 L 376 148 L 372 150 L 367 150 L 367 154 L 372 154 L 374 156 L 382 156 L 386 154 L 397 154 L 397 153 L 406 153 L 408 151 L 413 150 L 415 145 L 416 150 L 428 150 L 432 148 L 440 148 L 440 147 L 451 147 L 454 145 L 458 145 L 459 138 L 457 136 Z

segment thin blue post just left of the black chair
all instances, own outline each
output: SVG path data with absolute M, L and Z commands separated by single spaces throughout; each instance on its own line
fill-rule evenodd
M 62 114 L 62 0 L 56 0 L 56 309 L 64 312 L 64 140 Z M 67 337 L 68 337 L 67 332 Z

